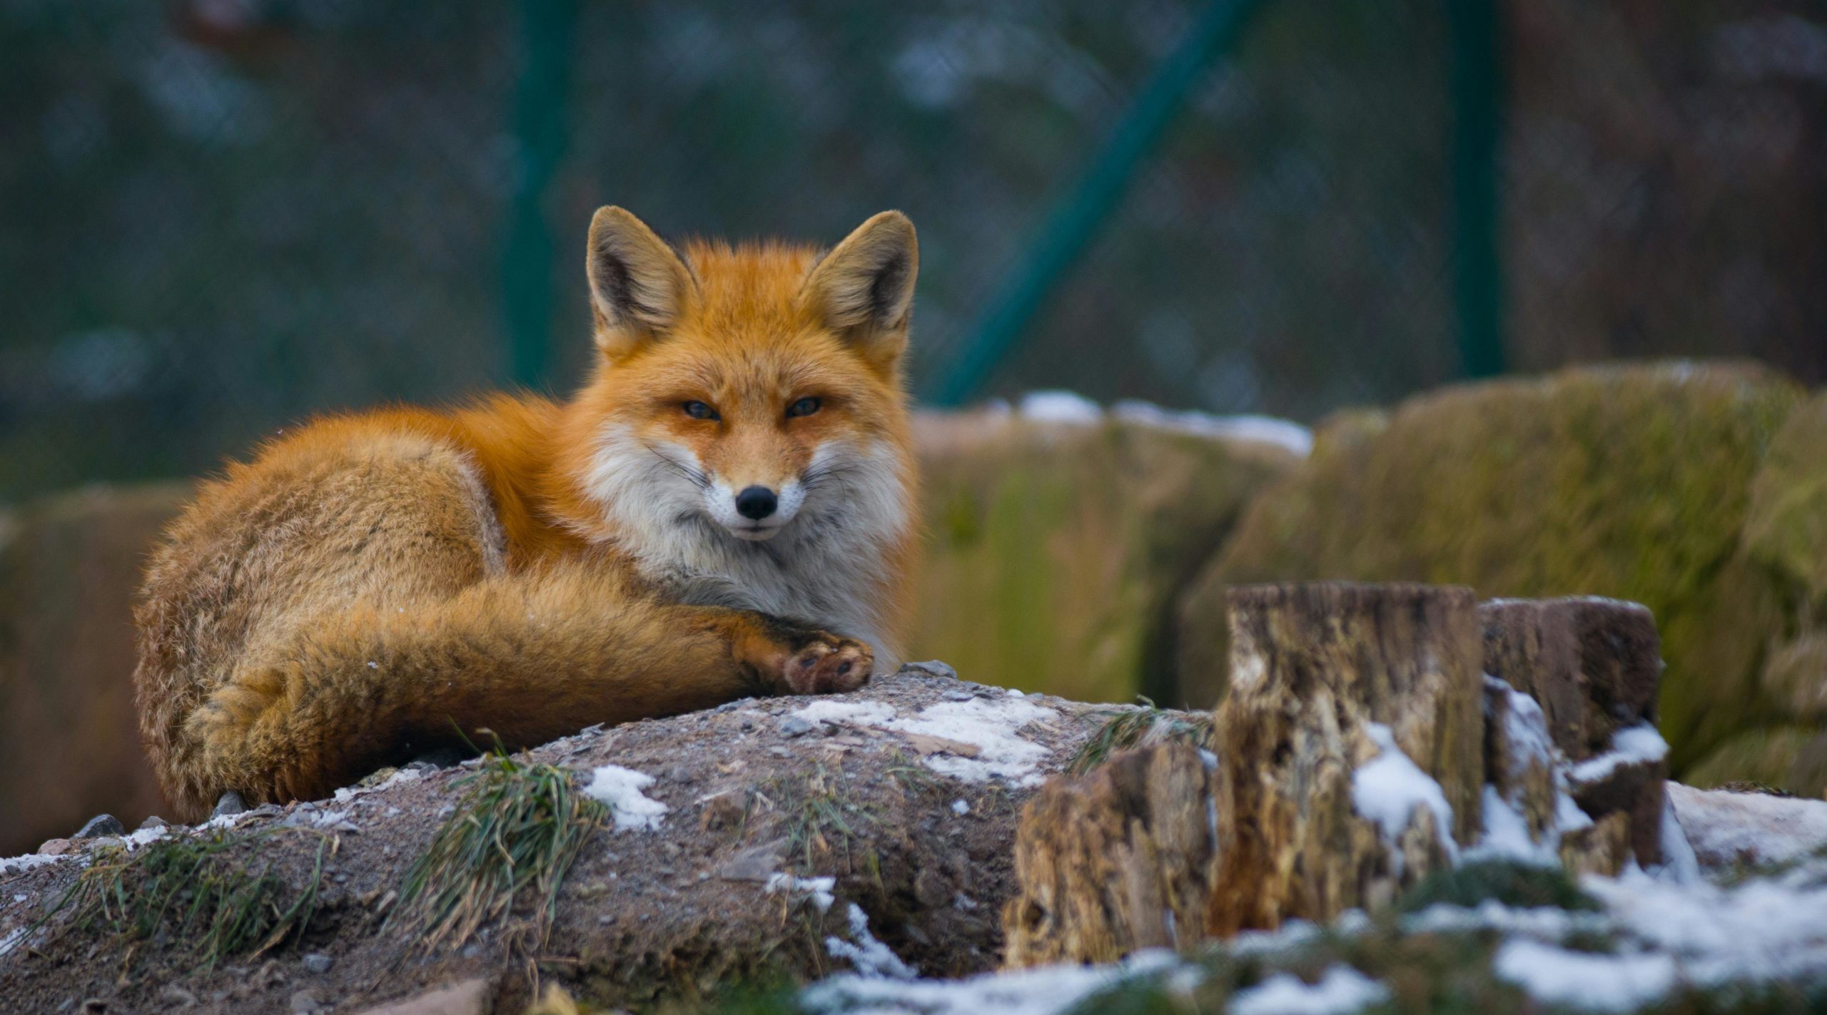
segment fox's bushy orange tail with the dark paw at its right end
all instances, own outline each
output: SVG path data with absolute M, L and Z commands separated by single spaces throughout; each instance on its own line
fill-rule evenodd
M 745 696 L 853 690 L 871 664 L 859 641 L 656 602 L 585 568 L 497 577 L 446 602 L 301 624 L 238 666 L 185 723 L 186 796 L 318 798 L 462 738 L 517 748 Z

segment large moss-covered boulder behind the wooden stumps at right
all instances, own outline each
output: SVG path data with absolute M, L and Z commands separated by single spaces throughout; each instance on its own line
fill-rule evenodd
M 1759 694 L 1783 599 L 1741 544 L 1752 476 L 1801 402 L 1741 363 L 1573 369 L 1451 387 L 1321 427 L 1180 604 L 1182 694 L 1224 686 L 1222 590 L 1264 581 L 1610 595 L 1655 612 L 1675 772 L 1779 714 Z

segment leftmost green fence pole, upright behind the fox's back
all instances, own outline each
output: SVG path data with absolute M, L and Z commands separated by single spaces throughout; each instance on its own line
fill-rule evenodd
M 521 77 L 513 95 L 513 199 L 502 245 L 501 301 L 508 376 L 541 387 L 552 358 L 552 230 L 546 190 L 565 157 L 577 0 L 523 0 Z

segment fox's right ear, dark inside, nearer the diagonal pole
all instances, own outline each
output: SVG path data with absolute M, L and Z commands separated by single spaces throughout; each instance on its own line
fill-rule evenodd
M 857 226 L 806 279 L 806 299 L 824 325 L 853 341 L 881 367 L 908 343 L 919 241 L 901 212 L 882 212 Z

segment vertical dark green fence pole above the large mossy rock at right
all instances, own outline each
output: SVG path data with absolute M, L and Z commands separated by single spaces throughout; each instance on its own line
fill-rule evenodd
M 1504 372 L 1504 265 L 1498 250 L 1504 146 L 1504 38 L 1498 0 L 1445 0 L 1452 89 L 1452 301 L 1460 371 Z

